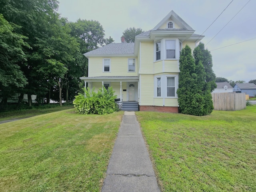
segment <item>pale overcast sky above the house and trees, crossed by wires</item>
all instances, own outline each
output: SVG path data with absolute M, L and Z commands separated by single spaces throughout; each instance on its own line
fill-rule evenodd
M 58 1 L 60 2 L 58 12 L 62 17 L 66 17 L 72 22 L 79 18 L 97 20 L 105 30 L 105 38 L 111 36 L 115 43 L 120 43 L 120 37 L 126 28 L 135 27 L 142 28 L 144 31 L 151 30 L 171 10 L 174 10 L 190 25 L 196 34 L 201 35 L 232 0 Z M 247 2 L 248 4 L 244 6 Z M 202 42 L 211 51 L 213 70 L 217 77 L 234 81 L 245 80 L 246 82 L 256 79 L 255 8 L 256 0 L 233 0 L 203 34 L 205 37 Z M 225 25 L 226 27 L 219 32 Z M 214 37 L 218 32 L 219 34 Z M 243 42 L 252 38 L 255 39 Z M 238 42 L 243 43 L 236 44 Z M 229 46 L 231 44 L 236 45 Z M 222 48 L 224 46 L 228 47 Z

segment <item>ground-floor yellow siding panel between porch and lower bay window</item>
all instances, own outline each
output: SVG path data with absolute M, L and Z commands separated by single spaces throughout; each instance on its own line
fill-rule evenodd
M 153 106 L 154 105 L 154 76 L 144 74 L 140 78 L 140 105 Z

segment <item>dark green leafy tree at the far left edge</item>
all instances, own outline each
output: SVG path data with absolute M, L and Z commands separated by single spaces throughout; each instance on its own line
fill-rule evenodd
M 28 82 L 18 63 L 26 61 L 23 48 L 30 46 L 24 41 L 25 36 L 14 32 L 19 28 L 10 24 L 0 14 L 0 97 L 1 108 L 7 109 L 8 96 L 14 94 L 18 87 L 24 87 Z

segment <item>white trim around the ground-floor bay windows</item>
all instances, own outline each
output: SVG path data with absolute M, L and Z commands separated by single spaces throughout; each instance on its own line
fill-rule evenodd
M 174 77 L 175 82 L 175 96 L 167 96 L 167 78 Z M 154 98 L 178 98 L 177 90 L 178 90 L 178 75 L 158 75 L 154 76 Z M 161 96 L 157 96 L 157 78 L 161 78 Z

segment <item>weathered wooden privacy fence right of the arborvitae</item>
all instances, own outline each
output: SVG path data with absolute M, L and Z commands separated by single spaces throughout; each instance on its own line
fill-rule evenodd
M 246 108 L 245 93 L 212 93 L 214 110 L 237 111 Z

